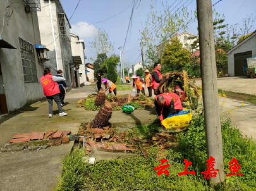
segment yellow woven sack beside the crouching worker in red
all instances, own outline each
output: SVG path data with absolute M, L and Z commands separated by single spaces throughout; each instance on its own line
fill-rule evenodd
M 182 111 L 179 112 L 179 114 L 175 114 L 164 119 L 162 125 L 165 128 L 183 128 L 190 125 L 191 119 L 191 111 Z

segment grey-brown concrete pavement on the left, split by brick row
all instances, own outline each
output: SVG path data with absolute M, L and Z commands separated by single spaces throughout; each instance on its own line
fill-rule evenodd
M 118 91 L 119 94 L 130 92 Z M 45 101 L 36 102 L 13 114 L 3 116 L 0 119 L 0 148 L 15 134 L 47 130 L 70 130 L 72 134 L 77 134 L 79 125 L 92 121 L 97 112 L 77 108 L 75 102 L 92 93 L 96 93 L 92 86 L 72 89 L 65 98 L 67 105 L 63 107 L 68 116 L 58 116 L 58 109 L 54 103 L 53 111 L 56 116 L 49 118 L 48 103 Z M 113 126 L 127 128 L 136 124 L 149 123 L 155 118 L 156 114 L 152 110 L 134 111 L 132 114 L 115 111 L 110 122 Z M 0 190 L 53 190 L 60 180 L 61 158 L 70 153 L 73 144 L 70 142 L 70 144 L 54 146 L 42 151 L 0 153 Z

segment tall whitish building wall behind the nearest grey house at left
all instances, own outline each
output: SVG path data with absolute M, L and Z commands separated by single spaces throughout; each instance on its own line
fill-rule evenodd
M 66 84 L 69 89 L 71 89 L 71 75 L 70 75 L 70 65 L 72 65 L 72 52 L 70 42 L 65 42 L 65 40 L 60 36 L 60 26 L 58 22 L 58 13 L 63 13 L 60 3 L 58 1 L 51 1 L 51 10 L 52 10 L 52 22 L 54 26 L 54 37 L 52 34 L 52 24 L 51 24 L 51 11 L 49 6 L 49 1 L 40 0 L 41 11 L 38 11 L 38 22 L 40 28 L 40 36 L 42 45 L 45 45 L 48 52 L 49 61 L 45 62 L 45 67 L 51 68 L 52 75 L 56 75 L 57 70 L 63 70 L 63 75 L 65 77 L 65 61 L 68 63 L 68 75 L 70 80 L 66 80 Z M 56 43 L 56 52 L 54 47 L 54 41 Z M 58 62 L 58 66 L 57 66 Z M 73 76 L 74 79 L 74 76 Z

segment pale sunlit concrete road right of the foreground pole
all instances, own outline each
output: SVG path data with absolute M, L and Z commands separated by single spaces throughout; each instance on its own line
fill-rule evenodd
M 201 80 L 196 80 L 196 86 L 202 86 Z M 250 79 L 247 77 L 223 77 L 218 78 L 218 88 L 234 91 L 239 93 L 247 93 L 251 95 L 256 94 L 256 78 Z M 225 104 L 222 105 L 222 102 Z M 231 118 L 239 130 L 241 130 L 247 137 L 253 137 L 256 139 L 256 105 L 252 103 L 245 103 L 244 107 L 241 107 L 241 101 L 232 100 L 228 98 L 220 98 L 221 115 L 223 117 L 228 116 Z M 238 109 L 234 109 L 238 107 Z M 228 114 L 228 110 L 232 113 Z M 232 116 L 232 114 L 234 116 Z

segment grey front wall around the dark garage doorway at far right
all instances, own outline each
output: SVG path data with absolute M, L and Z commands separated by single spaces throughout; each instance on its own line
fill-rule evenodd
M 252 50 L 252 57 L 256 57 L 256 35 L 249 40 L 241 43 L 236 49 L 228 54 L 228 76 L 235 75 L 235 58 L 234 54 Z

